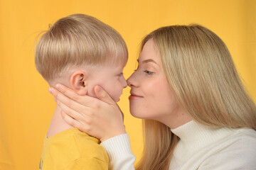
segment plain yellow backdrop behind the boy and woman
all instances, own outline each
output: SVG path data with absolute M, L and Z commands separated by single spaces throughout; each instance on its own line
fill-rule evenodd
M 0 0 L 0 169 L 38 169 L 55 101 L 34 66 L 36 35 L 64 16 L 86 13 L 119 31 L 127 42 L 127 78 L 139 42 L 161 26 L 199 23 L 228 46 L 238 72 L 256 99 L 255 0 Z M 141 120 L 129 115 L 129 88 L 119 102 L 132 151 L 142 152 Z

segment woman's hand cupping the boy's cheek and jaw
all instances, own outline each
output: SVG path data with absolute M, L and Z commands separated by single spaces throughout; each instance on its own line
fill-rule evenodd
M 68 124 L 101 142 L 126 133 L 122 111 L 100 86 L 94 89 L 97 98 L 80 96 L 61 84 L 55 87 L 49 89 L 50 94 L 55 96 Z

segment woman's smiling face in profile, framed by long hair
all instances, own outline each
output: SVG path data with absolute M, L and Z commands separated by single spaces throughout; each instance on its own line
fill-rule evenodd
M 170 128 L 188 122 L 184 122 L 186 114 L 171 91 L 153 40 L 146 42 L 138 62 L 139 67 L 127 79 L 131 87 L 131 114 L 136 118 L 158 120 Z

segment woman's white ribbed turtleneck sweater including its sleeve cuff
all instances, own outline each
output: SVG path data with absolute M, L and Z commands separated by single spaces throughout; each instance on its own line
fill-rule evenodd
M 170 170 L 256 169 L 255 130 L 213 129 L 191 121 L 171 131 L 180 141 L 174 149 Z M 112 137 L 101 145 L 110 157 L 110 169 L 134 169 L 135 157 L 127 134 Z

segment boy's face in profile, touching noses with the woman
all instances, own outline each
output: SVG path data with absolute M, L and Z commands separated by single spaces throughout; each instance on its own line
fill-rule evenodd
M 119 101 L 122 90 L 127 87 L 127 81 L 122 74 L 123 69 L 122 64 L 106 64 L 87 69 L 87 95 L 95 96 L 93 89 L 99 85 L 110 94 L 115 102 Z

